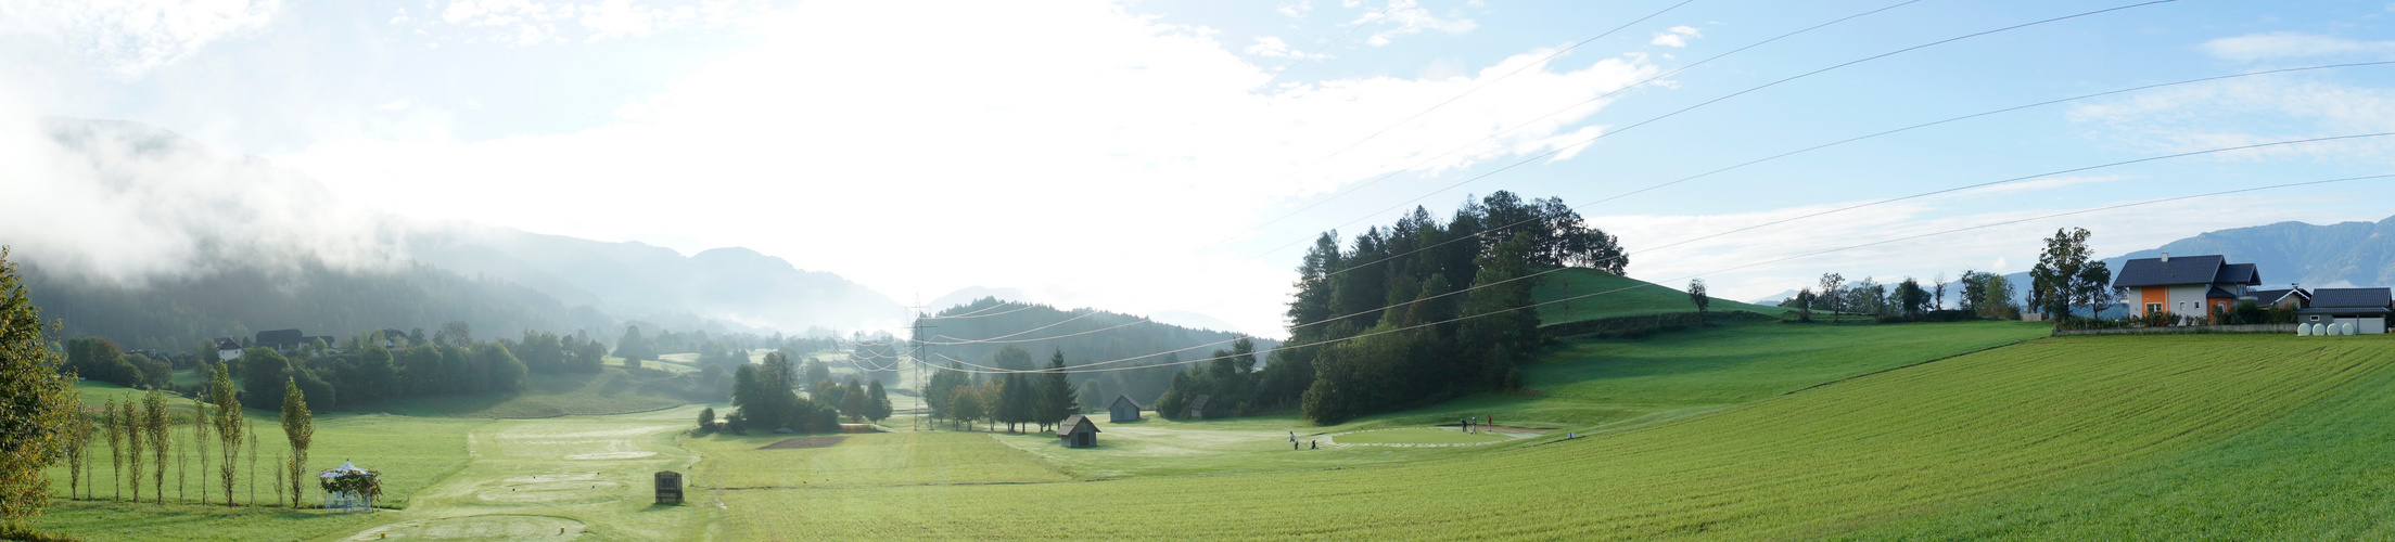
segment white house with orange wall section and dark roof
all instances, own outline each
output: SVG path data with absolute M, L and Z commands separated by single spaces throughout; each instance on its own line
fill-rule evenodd
M 2127 289 L 2132 315 L 2172 313 L 2208 318 L 2213 308 L 2227 313 L 2249 287 L 2261 287 L 2261 272 L 2251 263 L 2227 263 L 2223 255 L 2139 258 L 2120 265 L 2112 287 Z

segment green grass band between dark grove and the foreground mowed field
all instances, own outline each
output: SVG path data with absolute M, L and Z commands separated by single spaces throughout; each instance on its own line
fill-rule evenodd
M 1650 339 L 1569 341 L 1528 365 L 1523 394 L 1473 394 L 1425 408 L 1312 425 L 1298 415 L 1229 420 L 1099 423 L 1097 449 L 1063 449 L 1051 435 L 996 435 L 1047 463 L 1085 478 L 1281 473 L 1358 466 L 1401 466 L 1490 454 L 1487 446 L 1322 449 L 1291 454 L 1300 439 L 1332 432 L 1449 425 L 1466 415 L 1497 415 L 1499 425 L 1617 432 L 1703 415 L 1734 404 L 1875 370 L 1962 356 L 2045 337 L 2048 327 L 2019 322 L 1952 325 L 1732 325 Z M 903 425 L 901 425 L 903 427 Z M 946 427 L 946 425 L 941 425 Z

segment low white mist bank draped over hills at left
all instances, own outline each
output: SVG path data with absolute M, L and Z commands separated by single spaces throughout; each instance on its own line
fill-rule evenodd
M 424 224 L 335 198 L 268 160 L 115 119 L 43 119 L 31 141 L 50 213 L 74 229 L 12 232 L 36 296 L 69 334 L 139 346 L 302 327 L 352 334 L 465 320 L 613 339 L 625 320 L 711 332 L 896 322 L 901 306 L 831 272 L 750 248 L 680 255 L 647 244 Z M 405 186 L 400 186 L 405 189 Z M 36 217 L 38 220 L 38 217 Z

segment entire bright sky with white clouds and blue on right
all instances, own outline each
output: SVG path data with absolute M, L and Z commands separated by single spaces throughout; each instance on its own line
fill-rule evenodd
M 2390 179 L 2048 215 L 2395 174 L 2395 136 L 2206 153 L 2395 131 L 2390 64 L 1705 172 L 2390 62 L 2390 21 L 2385 0 L 0 0 L 0 119 L 153 124 L 402 220 L 1279 337 L 1305 241 L 1490 191 L 1583 205 L 1631 277 L 1741 301 L 2019 272 L 2057 227 L 2117 255 L 2385 220 Z M 12 210 L 57 184 L 7 170 Z

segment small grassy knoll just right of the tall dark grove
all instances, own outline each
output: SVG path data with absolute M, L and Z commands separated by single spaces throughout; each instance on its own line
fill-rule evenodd
M 1547 303 L 1566 296 L 1585 296 L 1597 291 L 1612 291 L 1612 294 L 1574 298 L 1569 303 Z M 1688 303 L 1688 291 L 1583 267 L 1569 267 L 1540 277 L 1540 284 L 1538 289 L 1530 291 L 1530 298 L 1547 303 L 1538 308 L 1538 322 L 1542 325 L 1624 318 L 1624 315 L 1696 313 L 1696 306 Z M 1760 315 L 1784 313 L 1782 308 L 1775 306 L 1756 306 L 1729 298 L 1712 298 L 1712 303 L 1708 303 L 1705 310 L 1715 313 L 1741 310 Z

